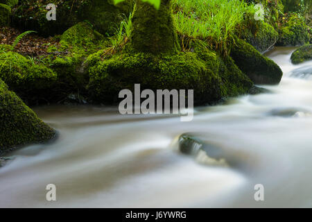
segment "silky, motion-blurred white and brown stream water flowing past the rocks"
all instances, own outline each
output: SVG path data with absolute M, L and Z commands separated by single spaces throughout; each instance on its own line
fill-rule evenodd
M 312 61 L 292 65 L 294 49 L 268 53 L 284 71 L 279 85 L 263 86 L 270 93 L 196 108 L 191 122 L 114 107 L 35 108 L 60 136 L 0 168 L 0 207 L 312 207 Z M 232 153 L 239 167 L 183 155 L 183 133 Z M 56 201 L 46 201 L 48 184 Z M 257 184 L 264 201 L 254 200 Z

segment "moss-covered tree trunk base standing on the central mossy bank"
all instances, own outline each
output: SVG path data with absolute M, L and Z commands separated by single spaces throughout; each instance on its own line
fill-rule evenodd
M 132 48 L 145 53 L 173 53 L 180 49 L 173 24 L 172 2 L 162 0 L 159 10 L 137 0 L 132 19 Z

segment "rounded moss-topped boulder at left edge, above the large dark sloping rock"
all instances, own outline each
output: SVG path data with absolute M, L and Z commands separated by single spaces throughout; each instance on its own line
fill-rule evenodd
M 0 52 L 0 78 L 21 98 L 34 102 L 49 96 L 57 75 L 19 53 L 3 51 Z

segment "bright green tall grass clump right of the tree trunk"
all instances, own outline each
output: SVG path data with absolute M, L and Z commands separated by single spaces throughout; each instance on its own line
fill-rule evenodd
M 175 26 L 188 37 L 208 42 L 227 55 L 233 35 L 244 15 L 254 15 L 254 8 L 239 0 L 175 0 Z

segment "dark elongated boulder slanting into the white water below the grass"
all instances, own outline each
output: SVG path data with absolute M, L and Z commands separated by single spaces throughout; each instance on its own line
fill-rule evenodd
M 236 38 L 230 56 L 254 84 L 274 85 L 281 80 L 283 72 L 279 66 L 243 40 Z

